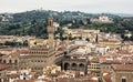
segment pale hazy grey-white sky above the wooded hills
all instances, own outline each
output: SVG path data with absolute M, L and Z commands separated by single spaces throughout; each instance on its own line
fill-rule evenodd
M 0 0 L 0 13 L 22 12 L 40 8 L 55 11 L 133 14 L 133 0 Z

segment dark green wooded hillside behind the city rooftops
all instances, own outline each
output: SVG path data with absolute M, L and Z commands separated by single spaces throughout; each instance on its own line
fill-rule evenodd
M 84 27 L 84 29 L 99 29 L 103 32 L 120 33 L 125 40 L 133 40 L 133 37 L 130 39 L 124 37 L 126 32 L 133 33 L 133 18 L 101 13 L 112 18 L 114 23 L 91 23 L 91 18 L 98 18 L 101 14 L 84 13 L 80 11 L 58 12 L 50 10 L 33 10 L 12 14 L 6 13 L 4 17 L 11 16 L 12 18 L 8 18 L 9 21 L 0 22 L 0 34 L 47 38 L 47 19 L 50 14 L 53 16 L 55 22 L 60 23 L 61 28 L 71 23 L 72 25 L 69 25 L 71 29 L 80 27 Z M 84 21 L 86 23 L 84 23 Z M 58 30 L 58 32 L 62 32 L 61 29 Z

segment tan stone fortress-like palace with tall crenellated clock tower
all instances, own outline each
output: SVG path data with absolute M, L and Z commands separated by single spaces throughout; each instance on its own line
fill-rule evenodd
M 32 47 L 27 55 L 20 55 L 20 70 L 31 70 L 42 73 L 48 65 L 54 64 L 55 48 L 54 48 L 54 27 L 53 18 L 48 19 L 49 39 L 45 45 Z

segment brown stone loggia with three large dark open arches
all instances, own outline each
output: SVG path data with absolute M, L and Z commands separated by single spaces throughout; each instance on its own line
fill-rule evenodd
M 82 57 L 80 58 L 76 55 L 68 55 L 62 61 L 62 70 L 79 71 L 80 74 L 84 75 L 84 74 L 86 74 L 86 63 L 88 63 L 88 61 L 85 58 L 82 58 Z

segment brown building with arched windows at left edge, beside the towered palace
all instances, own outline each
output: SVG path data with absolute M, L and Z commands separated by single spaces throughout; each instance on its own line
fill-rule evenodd
M 25 54 L 28 52 L 27 49 L 13 49 L 13 48 L 3 48 L 0 49 L 0 53 L 2 53 L 0 63 L 10 64 L 11 69 L 19 70 L 19 61 L 20 54 Z

